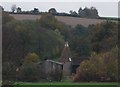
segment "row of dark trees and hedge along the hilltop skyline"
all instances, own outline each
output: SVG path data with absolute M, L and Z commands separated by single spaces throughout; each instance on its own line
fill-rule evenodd
M 3 8 L 4 10 L 4 8 Z M 79 10 L 73 11 L 70 10 L 69 13 L 65 13 L 65 12 L 58 12 L 56 10 L 56 8 L 50 8 L 48 10 L 48 12 L 41 12 L 38 8 L 34 8 L 31 11 L 22 11 L 21 7 L 16 7 L 16 5 L 12 5 L 11 7 L 11 12 L 9 12 L 11 14 L 33 14 L 33 15 L 39 15 L 42 13 L 51 13 L 53 15 L 56 16 L 71 16 L 71 17 L 82 17 L 82 18 L 99 18 L 98 15 L 98 11 L 95 7 L 85 7 L 84 9 L 82 9 L 81 7 L 79 8 Z

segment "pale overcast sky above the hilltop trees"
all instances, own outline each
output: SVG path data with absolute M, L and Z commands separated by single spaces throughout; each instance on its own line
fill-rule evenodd
M 11 6 L 16 5 L 21 7 L 22 10 L 33 10 L 38 8 L 39 11 L 48 11 L 50 8 L 56 8 L 58 12 L 69 13 L 70 10 L 78 11 L 80 7 L 90 8 L 95 7 L 101 17 L 118 17 L 118 0 L 29 0 L 29 1 L 18 1 L 18 0 L 4 0 L 0 2 L 0 5 L 5 10 L 11 11 Z

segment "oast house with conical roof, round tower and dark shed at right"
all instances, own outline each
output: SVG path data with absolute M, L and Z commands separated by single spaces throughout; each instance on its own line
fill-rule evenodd
M 60 62 L 63 64 L 63 76 L 71 76 L 76 73 L 76 70 L 80 66 L 82 60 L 80 60 L 80 58 L 72 57 L 69 44 L 68 42 L 65 42 Z

